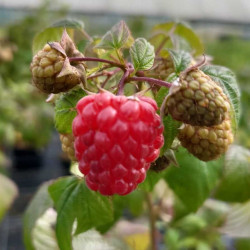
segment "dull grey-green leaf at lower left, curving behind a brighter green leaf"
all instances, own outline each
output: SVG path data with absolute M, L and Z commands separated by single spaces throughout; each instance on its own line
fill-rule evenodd
M 24 244 L 27 250 L 35 250 L 32 238 L 32 230 L 35 227 L 36 221 L 44 214 L 44 212 L 53 206 L 53 202 L 48 193 L 48 186 L 51 182 L 44 183 L 32 201 L 24 214 Z

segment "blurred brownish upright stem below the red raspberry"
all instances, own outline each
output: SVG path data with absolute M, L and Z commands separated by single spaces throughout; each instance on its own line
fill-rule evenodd
M 157 242 L 156 242 L 156 227 L 155 227 L 155 213 L 153 209 L 153 202 L 151 194 L 145 193 L 146 203 L 148 206 L 149 212 L 149 222 L 150 222 L 150 237 L 151 237 L 151 249 L 157 250 Z

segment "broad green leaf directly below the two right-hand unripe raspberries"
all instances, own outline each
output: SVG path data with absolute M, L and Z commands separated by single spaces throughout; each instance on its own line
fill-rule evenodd
M 222 160 L 206 163 L 189 154 L 184 148 L 176 152 L 176 158 L 179 168 L 167 168 L 165 180 L 182 202 L 185 213 L 195 212 L 214 188 Z

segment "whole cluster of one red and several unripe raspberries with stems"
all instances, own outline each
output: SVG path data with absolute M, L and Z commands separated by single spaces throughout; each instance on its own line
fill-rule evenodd
M 93 58 L 84 57 L 64 31 L 60 42 L 45 45 L 34 56 L 31 63 L 33 84 L 45 93 L 59 93 L 80 83 L 86 88 L 90 78 L 107 76 L 108 81 L 115 72 L 124 71 L 115 86 L 117 95 L 102 90 L 78 98 L 73 134 L 61 134 L 60 139 L 62 150 L 72 161 L 79 162 L 79 170 L 90 189 L 103 195 L 126 195 L 144 181 L 150 164 L 158 158 L 164 144 L 164 127 L 156 102 L 139 94 L 122 95 L 124 84 L 131 79 L 148 80 L 153 84 L 153 92 L 158 91 L 159 86 L 169 87 L 171 84 L 163 80 L 172 73 L 177 74 L 176 61 L 170 56 L 158 57 L 151 69 L 135 72 L 132 63 L 94 58 L 105 65 L 96 71 L 91 69 L 87 81 L 84 60 L 93 61 Z M 191 57 L 186 64 L 189 68 L 171 85 L 161 111 L 183 122 L 178 134 L 183 147 L 200 160 L 213 160 L 233 141 L 230 103 L 221 86 L 198 69 Z M 120 68 L 118 71 L 104 71 L 116 66 Z M 138 79 L 139 73 L 143 78 Z M 131 77 L 133 74 L 135 76 Z M 155 87 L 155 83 L 159 86 Z M 73 109 L 75 112 L 75 107 Z M 171 162 L 169 159 L 165 152 L 152 164 L 152 169 L 166 168 Z

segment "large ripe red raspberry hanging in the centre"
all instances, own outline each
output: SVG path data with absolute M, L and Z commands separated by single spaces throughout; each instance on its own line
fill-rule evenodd
M 105 92 L 82 98 L 76 108 L 75 151 L 88 187 L 103 195 L 130 193 L 163 145 L 155 101 Z

